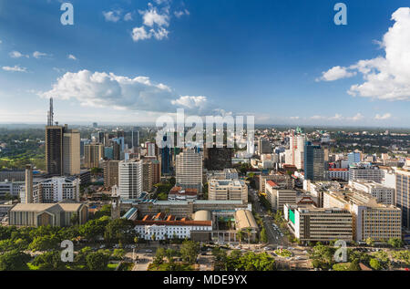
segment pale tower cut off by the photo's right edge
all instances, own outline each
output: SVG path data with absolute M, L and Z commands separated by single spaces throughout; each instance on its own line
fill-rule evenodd
M 410 229 L 410 168 L 395 170 L 395 205 L 402 210 L 402 224 Z

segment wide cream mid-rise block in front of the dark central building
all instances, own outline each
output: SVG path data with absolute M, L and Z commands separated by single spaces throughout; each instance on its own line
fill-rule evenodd
M 248 185 L 240 180 L 208 181 L 208 199 L 213 201 L 243 201 L 248 202 Z

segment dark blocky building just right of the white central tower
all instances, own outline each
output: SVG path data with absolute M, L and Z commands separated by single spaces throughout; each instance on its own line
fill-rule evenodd
M 204 148 L 203 161 L 207 170 L 224 170 L 232 167 L 231 148 Z

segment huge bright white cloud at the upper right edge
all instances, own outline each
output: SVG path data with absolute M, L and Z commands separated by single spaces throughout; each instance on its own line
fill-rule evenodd
M 410 8 L 398 8 L 392 15 L 392 20 L 395 24 L 388 29 L 379 43 L 384 49 L 384 56 L 360 60 L 348 68 L 334 69 L 333 73 L 336 76 L 343 77 L 343 73 L 346 76 L 346 73 L 354 72 L 363 75 L 364 82 L 353 85 L 348 90 L 350 95 L 410 100 Z M 330 75 L 332 76 L 332 73 Z M 339 78 L 341 77 L 330 77 L 328 80 Z

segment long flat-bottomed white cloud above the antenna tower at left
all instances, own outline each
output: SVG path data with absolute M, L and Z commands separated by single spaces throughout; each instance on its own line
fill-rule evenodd
M 59 77 L 53 88 L 40 92 L 42 98 L 77 99 L 83 106 L 153 112 L 206 115 L 220 110 L 203 96 L 179 96 L 173 89 L 152 82 L 149 77 L 123 77 L 114 73 L 80 70 Z

